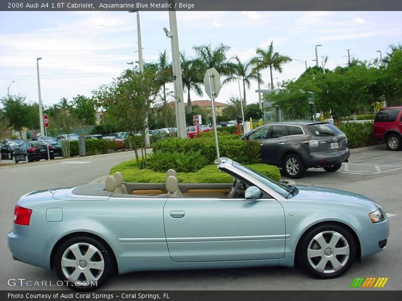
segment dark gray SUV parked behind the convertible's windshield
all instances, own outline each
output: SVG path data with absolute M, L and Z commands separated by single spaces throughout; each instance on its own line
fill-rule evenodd
M 264 124 L 242 139 L 260 141 L 261 162 L 281 167 L 292 179 L 303 177 L 308 168 L 336 172 L 350 157 L 346 135 L 329 122 Z

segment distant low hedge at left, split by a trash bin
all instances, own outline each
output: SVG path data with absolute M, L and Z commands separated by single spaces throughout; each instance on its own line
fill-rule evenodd
M 85 139 L 86 156 L 109 154 L 124 148 L 122 142 L 108 139 Z M 64 154 L 63 154 L 64 155 Z M 78 141 L 70 141 L 70 157 L 79 155 Z

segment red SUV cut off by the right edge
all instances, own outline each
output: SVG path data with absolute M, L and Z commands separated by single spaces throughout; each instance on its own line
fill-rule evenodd
M 384 107 L 375 116 L 374 135 L 389 150 L 402 148 L 402 105 Z

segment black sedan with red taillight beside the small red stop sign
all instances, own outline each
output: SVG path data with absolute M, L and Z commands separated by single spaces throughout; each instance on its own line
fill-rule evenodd
M 45 141 L 29 141 L 24 142 L 20 147 L 14 149 L 13 162 L 25 161 L 26 163 L 32 161 L 39 161 L 41 159 L 48 159 L 47 148 L 49 148 L 49 157 L 54 159 L 53 146 Z

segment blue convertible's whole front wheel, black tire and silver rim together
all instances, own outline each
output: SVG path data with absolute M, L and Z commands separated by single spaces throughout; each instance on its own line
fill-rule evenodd
M 321 225 L 302 239 L 296 254 L 298 262 L 316 278 L 339 277 L 346 273 L 355 260 L 356 242 L 342 226 Z

